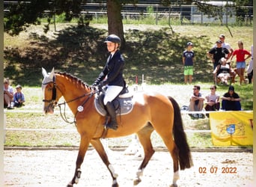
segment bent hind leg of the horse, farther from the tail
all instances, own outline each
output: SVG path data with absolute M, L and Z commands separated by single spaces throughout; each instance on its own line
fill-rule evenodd
M 144 168 L 146 168 L 147 163 L 150 161 L 151 156 L 153 156 L 153 153 L 155 153 L 155 150 L 153 150 L 153 146 L 151 144 L 150 136 L 153 132 L 153 127 L 150 125 L 150 123 L 147 124 L 143 129 L 137 132 L 138 139 L 141 142 L 141 145 L 144 150 L 144 159 L 141 162 L 141 165 L 138 168 L 138 171 L 136 173 L 136 178 L 133 181 L 133 184 L 136 186 L 138 183 L 141 182 L 141 176 L 143 174 Z

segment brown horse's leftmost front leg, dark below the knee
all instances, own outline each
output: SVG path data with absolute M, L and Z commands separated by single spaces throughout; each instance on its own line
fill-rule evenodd
M 67 187 L 72 187 L 73 184 L 77 184 L 79 182 L 79 179 L 81 177 L 81 165 L 85 158 L 86 150 L 88 149 L 90 141 L 89 138 L 85 135 L 81 137 L 80 141 L 80 147 L 79 147 L 79 153 L 76 159 L 76 170 L 73 179 L 70 181 L 70 183 L 67 184 Z

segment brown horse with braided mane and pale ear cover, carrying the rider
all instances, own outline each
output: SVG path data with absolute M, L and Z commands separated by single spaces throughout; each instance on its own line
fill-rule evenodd
M 192 157 L 183 130 L 180 108 L 171 96 L 167 97 L 159 93 L 145 93 L 143 91 L 135 93 L 132 111 L 129 114 L 117 117 L 117 130 L 109 129 L 105 132 L 103 123 L 106 118 L 97 112 L 94 106 L 94 90 L 90 86 L 70 74 L 54 73 L 54 69 L 49 74 L 43 69 L 42 73 L 44 76 L 42 84 L 44 112 L 52 114 L 54 107 L 61 105 L 58 104 L 60 97 L 64 96 L 65 103 L 75 116 L 77 131 L 81 136 L 79 153 L 76 159 L 76 171 L 67 186 L 78 183 L 81 176 L 80 168 L 89 144 L 97 150 L 100 158 L 109 169 L 113 180 L 112 186 L 118 186 L 118 174 L 115 174 L 115 170 L 110 164 L 100 141 L 103 134 L 106 138 L 116 138 L 133 133 L 138 135 L 138 140 L 144 149 L 144 159 L 136 173 L 134 185 L 141 182 L 140 177 L 144 168 L 155 152 L 150 141 L 153 130 L 156 130 L 160 135 L 171 153 L 174 164 L 172 186 L 177 186 L 179 166 L 180 170 L 192 167 Z

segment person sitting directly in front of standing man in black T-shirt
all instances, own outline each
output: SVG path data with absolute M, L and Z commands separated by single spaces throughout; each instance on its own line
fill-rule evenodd
M 221 58 L 220 63 L 213 71 L 213 74 L 217 75 L 223 85 L 228 85 L 228 80 L 231 78 L 231 67 L 227 64 L 225 58 Z

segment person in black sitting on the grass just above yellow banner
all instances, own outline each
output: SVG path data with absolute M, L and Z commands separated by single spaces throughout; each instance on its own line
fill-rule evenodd
M 222 110 L 240 111 L 240 96 L 234 91 L 234 86 L 229 86 L 228 92 L 222 96 Z

